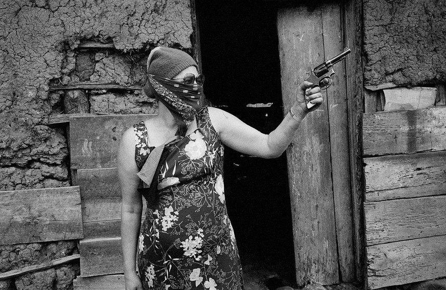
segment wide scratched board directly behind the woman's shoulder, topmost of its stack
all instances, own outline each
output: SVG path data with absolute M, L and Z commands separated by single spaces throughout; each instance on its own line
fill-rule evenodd
M 135 123 L 155 116 L 112 115 L 70 118 L 71 168 L 116 167 L 122 133 Z

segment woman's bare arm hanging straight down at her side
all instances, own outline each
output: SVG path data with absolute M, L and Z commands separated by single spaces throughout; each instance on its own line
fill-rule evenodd
M 118 177 L 121 185 L 121 242 L 126 290 L 143 290 L 136 273 L 136 251 L 143 212 L 143 200 L 137 191 L 139 177 L 135 162 L 133 128 L 124 132 L 118 151 Z

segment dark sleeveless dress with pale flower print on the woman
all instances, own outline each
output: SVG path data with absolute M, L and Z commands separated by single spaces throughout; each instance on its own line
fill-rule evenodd
M 223 144 L 207 107 L 198 128 L 172 146 L 157 176 L 155 197 L 139 235 L 144 289 L 243 290 L 243 276 L 223 186 Z M 136 163 L 154 147 L 144 122 L 134 125 Z M 154 201 L 153 201 L 154 200 Z

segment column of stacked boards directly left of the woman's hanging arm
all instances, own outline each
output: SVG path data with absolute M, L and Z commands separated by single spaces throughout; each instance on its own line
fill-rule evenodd
M 77 169 L 75 174 L 82 198 L 84 228 L 84 239 L 79 242 L 81 276 L 75 283 L 75 289 L 93 287 L 95 283 L 88 282 L 88 279 L 99 281 L 93 276 L 123 273 L 120 229 L 122 196 L 118 172 L 114 167 L 116 152 L 122 133 L 150 116 L 153 115 L 70 118 L 72 164 Z M 145 202 L 143 205 L 144 212 Z

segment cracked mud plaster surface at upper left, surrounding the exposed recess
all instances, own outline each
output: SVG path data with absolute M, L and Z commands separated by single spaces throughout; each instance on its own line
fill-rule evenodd
M 0 3 L 0 173 L 8 180 L 2 190 L 68 185 L 67 173 L 54 177 L 66 171 L 66 141 L 46 126 L 55 104 L 49 82 L 75 71 L 73 50 L 80 41 L 112 41 L 121 51 L 191 49 L 191 34 L 189 0 Z M 33 162 L 57 174 L 32 168 Z

